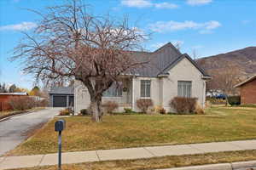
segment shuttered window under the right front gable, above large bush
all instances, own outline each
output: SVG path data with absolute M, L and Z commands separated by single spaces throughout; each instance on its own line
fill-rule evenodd
M 190 98 L 191 86 L 192 82 L 190 81 L 177 81 L 177 96 Z

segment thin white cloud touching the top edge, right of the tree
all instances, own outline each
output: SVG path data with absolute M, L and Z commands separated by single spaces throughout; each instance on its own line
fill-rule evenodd
M 127 7 L 133 8 L 177 8 L 177 4 L 174 3 L 152 3 L 148 0 L 122 0 L 121 4 Z

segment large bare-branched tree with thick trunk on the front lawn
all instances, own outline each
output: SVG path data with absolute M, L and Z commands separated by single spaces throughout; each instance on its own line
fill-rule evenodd
M 47 8 L 38 27 L 15 48 L 13 59 L 24 61 L 24 71 L 44 83 L 77 79 L 90 94 L 92 120 L 102 120 L 102 94 L 119 75 L 148 62 L 138 61 L 131 50 L 146 35 L 128 20 L 87 13 L 80 1 Z

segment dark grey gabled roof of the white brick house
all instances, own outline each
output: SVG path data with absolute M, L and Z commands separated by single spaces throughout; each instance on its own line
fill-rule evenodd
M 148 61 L 148 65 L 138 68 L 134 71 L 138 77 L 158 77 L 166 75 L 174 65 L 183 58 L 189 59 L 189 61 L 195 65 L 195 67 L 201 71 L 204 77 L 209 77 L 205 71 L 201 69 L 199 65 L 195 63 L 188 54 L 181 54 L 177 48 L 175 48 L 171 42 L 155 50 L 152 53 L 147 52 L 132 52 L 132 55 L 139 61 Z

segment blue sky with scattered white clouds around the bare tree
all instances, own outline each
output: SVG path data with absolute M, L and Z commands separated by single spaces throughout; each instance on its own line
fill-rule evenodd
M 0 0 L 0 83 L 32 88 L 34 78 L 24 75 L 20 61 L 10 61 L 14 48 L 30 32 L 46 7 L 66 0 Z M 84 0 L 90 13 L 127 16 L 132 26 L 151 33 L 148 51 L 166 42 L 179 44 L 182 53 L 196 57 L 222 54 L 256 46 L 256 0 Z

